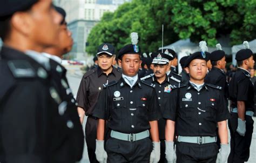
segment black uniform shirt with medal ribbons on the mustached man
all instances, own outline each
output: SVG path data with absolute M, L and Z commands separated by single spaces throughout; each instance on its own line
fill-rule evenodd
M 157 92 L 157 98 L 160 105 L 161 114 L 164 113 L 164 109 L 169 107 L 171 104 L 171 94 L 173 87 L 179 86 L 179 80 L 174 77 L 167 77 L 163 83 L 158 83 L 156 76 L 149 77 L 145 79 L 148 83 L 153 83 Z M 165 124 L 166 120 L 164 118 L 158 121 L 159 139 L 165 139 Z

